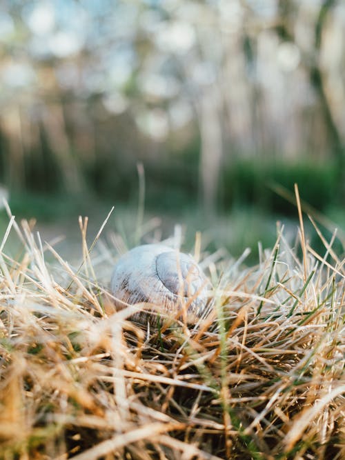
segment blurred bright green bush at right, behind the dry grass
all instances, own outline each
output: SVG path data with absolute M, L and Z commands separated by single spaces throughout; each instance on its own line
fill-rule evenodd
M 293 193 L 297 183 L 302 200 L 325 211 L 331 203 L 341 204 L 338 174 L 332 161 L 237 161 L 224 172 L 223 206 L 254 205 L 274 214 L 295 216 L 296 206 L 279 197 L 275 188 L 281 186 Z

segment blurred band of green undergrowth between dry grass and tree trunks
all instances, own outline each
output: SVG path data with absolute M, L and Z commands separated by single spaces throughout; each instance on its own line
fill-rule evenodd
M 328 239 L 335 228 L 345 226 L 341 183 L 335 163 L 265 163 L 237 159 L 224 168 L 223 179 L 219 183 L 218 209 L 208 215 L 199 199 L 197 150 L 191 149 L 186 156 L 178 158 L 175 162 L 144 164 L 146 217 L 153 219 L 164 238 L 169 237 L 176 223 L 182 223 L 182 233 L 189 246 L 193 245 L 195 231 L 199 230 L 208 241 L 208 250 L 226 248 L 234 257 L 239 257 L 245 248 L 250 248 L 249 260 L 255 263 L 259 254 L 258 242 L 264 248 L 273 247 L 277 221 L 286 227 L 286 234 L 293 244 L 292 235 L 297 228 L 294 183 L 298 183 L 304 211 L 311 214 Z M 184 158 L 187 158 L 186 163 Z M 110 224 L 121 232 L 128 247 L 133 246 L 136 237 L 132 228 L 137 228 L 139 193 L 137 172 L 133 168 L 127 175 L 117 175 L 114 168 L 109 159 L 99 172 L 103 171 L 104 181 L 92 182 L 90 177 L 86 177 L 87 187 L 83 194 L 11 194 L 12 212 L 19 220 L 37 217 L 40 228 L 55 223 L 56 236 L 69 234 L 67 241 L 71 241 L 73 234 L 76 241 L 75 223 L 79 214 L 97 222 L 114 205 Z M 0 211 L 0 228 L 4 226 L 6 213 Z M 315 249 L 322 250 L 322 241 L 309 221 L 306 233 Z M 342 230 L 339 230 L 338 236 L 344 244 Z M 335 247 L 341 254 L 342 244 L 339 241 L 335 241 Z

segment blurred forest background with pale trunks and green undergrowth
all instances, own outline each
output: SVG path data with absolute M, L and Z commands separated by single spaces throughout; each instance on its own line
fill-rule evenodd
M 1 0 L 0 194 L 48 236 L 113 204 L 128 235 L 145 201 L 255 257 L 294 183 L 345 228 L 344 107 L 343 1 Z

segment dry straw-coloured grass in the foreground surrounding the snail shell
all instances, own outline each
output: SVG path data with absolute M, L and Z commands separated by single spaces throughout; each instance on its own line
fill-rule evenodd
M 26 222 L 21 254 L 0 244 L 1 459 L 344 459 L 334 238 L 319 255 L 279 232 L 253 268 L 206 257 L 210 317 L 157 332 L 110 314 L 115 251 L 81 230 L 79 268 Z

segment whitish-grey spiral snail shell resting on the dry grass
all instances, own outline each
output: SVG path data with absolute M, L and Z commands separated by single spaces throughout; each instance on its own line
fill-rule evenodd
M 133 248 L 117 261 L 110 283 L 117 308 L 148 303 L 132 319 L 157 324 L 158 317 L 194 322 L 207 312 L 210 282 L 193 257 L 163 244 Z

